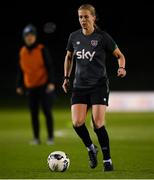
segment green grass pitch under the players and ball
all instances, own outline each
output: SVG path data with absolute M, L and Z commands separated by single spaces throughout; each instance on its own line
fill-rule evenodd
M 0 110 L 0 178 L 154 178 L 154 113 L 107 113 L 106 127 L 115 167 L 113 172 L 102 171 L 100 148 L 98 167 L 89 168 L 87 150 L 73 131 L 70 117 L 69 108 L 54 109 L 55 144 L 48 146 L 45 120 L 41 114 L 42 144 L 31 146 L 28 143 L 32 137 L 28 110 Z M 90 113 L 87 126 L 98 145 L 90 125 Z M 49 171 L 47 156 L 55 150 L 69 155 L 71 164 L 68 171 Z

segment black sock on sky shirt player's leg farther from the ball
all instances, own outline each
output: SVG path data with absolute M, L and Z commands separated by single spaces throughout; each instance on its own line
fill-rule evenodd
M 97 134 L 98 141 L 104 156 L 104 160 L 110 159 L 111 156 L 110 156 L 109 136 L 105 129 L 105 126 L 102 126 L 99 129 L 95 128 L 95 133 Z

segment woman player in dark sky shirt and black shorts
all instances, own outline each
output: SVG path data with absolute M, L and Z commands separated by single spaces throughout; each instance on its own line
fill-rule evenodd
M 85 126 L 87 109 L 91 106 L 94 131 L 103 153 L 104 171 L 112 171 L 109 137 L 105 128 L 105 112 L 109 97 L 105 56 L 106 52 L 109 52 L 117 58 L 119 77 L 126 75 L 125 57 L 111 36 L 97 27 L 96 12 L 92 5 L 81 5 L 78 16 L 81 29 L 71 33 L 68 40 L 63 89 L 67 93 L 73 60 L 75 60 L 76 70 L 71 98 L 73 127 L 87 147 L 90 167 L 95 168 L 98 150 Z

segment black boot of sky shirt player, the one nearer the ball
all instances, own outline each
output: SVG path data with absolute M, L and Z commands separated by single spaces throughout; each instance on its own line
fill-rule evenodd
M 88 155 L 89 155 L 89 164 L 90 167 L 92 169 L 94 169 L 97 166 L 97 153 L 98 153 L 98 149 L 97 146 L 94 146 L 94 150 L 90 150 L 88 151 Z

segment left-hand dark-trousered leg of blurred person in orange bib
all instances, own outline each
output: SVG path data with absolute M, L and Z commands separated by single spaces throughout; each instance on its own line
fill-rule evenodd
M 39 97 L 38 92 L 29 90 L 27 92 L 29 99 L 29 109 L 31 114 L 32 130 L 34 135 L 34 140 L 31 144 L 40 143 L 40 125 L 39 125 Z

